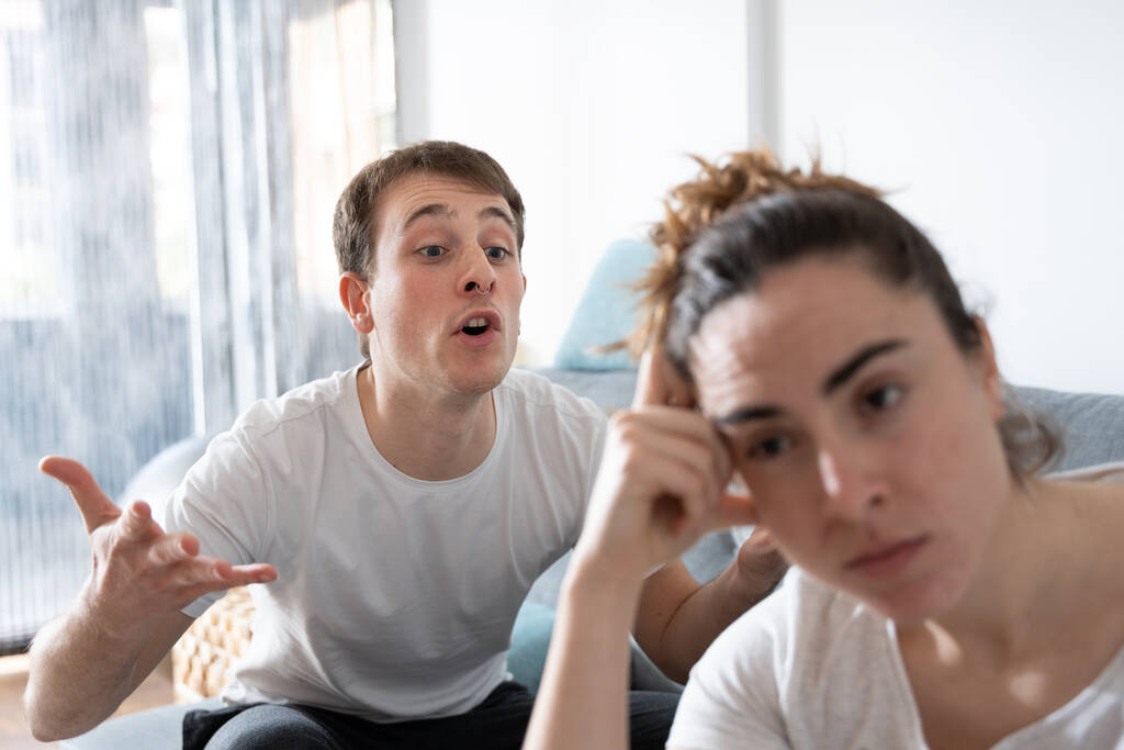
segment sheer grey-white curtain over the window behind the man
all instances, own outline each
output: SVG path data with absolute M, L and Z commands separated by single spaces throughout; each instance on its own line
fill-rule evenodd
M 0 0 L 0 652 L 157 452 L 351 365 L 339 191 L 395 143 L 390 0 Z

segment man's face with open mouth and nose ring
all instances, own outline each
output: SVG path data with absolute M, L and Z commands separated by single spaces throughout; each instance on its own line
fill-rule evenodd
M 526 287 L 507 201 L 450 178 L 410 174 L 380 199 L 375 227 L 369 304 L 377 382 L 459 394 L 495 388 L 515 358 Z

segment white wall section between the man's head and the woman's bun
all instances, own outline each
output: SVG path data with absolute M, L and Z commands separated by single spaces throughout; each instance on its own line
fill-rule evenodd
M 523 362 L 551 361 L 601 251 L 660 217 L 687 153 L 750 143 L 769 90 L 750 80 L 758 4 L 396 4 L 400 141 L 483 148 L 527 204 Z

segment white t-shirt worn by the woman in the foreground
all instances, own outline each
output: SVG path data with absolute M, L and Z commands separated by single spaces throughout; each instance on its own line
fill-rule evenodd
M 1081 473 L 1124 481 L 1124 464 Z M 892 621 L 792 568 L 691 670 L 669 748 L 925 748 Z M 1084 692 L 995 750 L 1124 750 L 1124 649 Z

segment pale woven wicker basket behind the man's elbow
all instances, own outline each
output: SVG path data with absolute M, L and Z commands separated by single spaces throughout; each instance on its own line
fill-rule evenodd
M 172 647 L 175 702 L 218 695 L 234 661 L 250 645 L 254 603 L 245 588 L 232 588 L 191 624 Z

